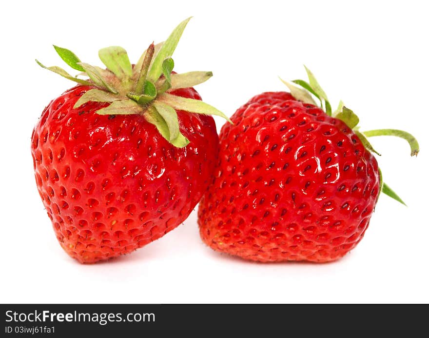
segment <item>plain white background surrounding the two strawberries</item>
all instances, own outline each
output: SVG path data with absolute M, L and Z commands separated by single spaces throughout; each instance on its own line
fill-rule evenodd
M 412 0 L 4 2 L 0 301 L 429 302 L 427 13 L 425 1 Z M 44 106 L 73 84 L 34 59 L 61 65 L 57 44 L 100 65 L 99 48 L 121 45 L 136 61 L 191 15 L 176 70 L 212 70 L 198 91 L 227 115 L 262 91 L 284 90 L 278 75 L 304 78 L 306 64 L 363 130 L 412 132 L 417 159 L 404 140 L 372 139 L 385 180 L 409 206 L 382 196 L 362 242 L 329 264 L 258 264 L 215 253 L 199 239 L 195 212 L 126 257 L 95 265 L 69 258 L 37 193 L 30 136 Z

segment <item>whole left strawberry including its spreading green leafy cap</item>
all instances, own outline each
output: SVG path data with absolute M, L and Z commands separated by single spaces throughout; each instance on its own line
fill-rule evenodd
M 55 46 L 89 80 L 37 61 L 78 82 L 44 109 L 31 152 L 57 239 L 81 263 L 162 237 L 188 217 L 209 183 L 218 136 L 206 114 L 224 115 L 192 88 L 210 72 L 172 72 L 188 20 L 164 44 L 151 44 L 134 67 L 121 47 L 99 51 L 102 69 Z

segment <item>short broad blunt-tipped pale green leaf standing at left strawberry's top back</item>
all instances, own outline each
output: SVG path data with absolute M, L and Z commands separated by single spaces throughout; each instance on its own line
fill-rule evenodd
M 120 80 L 129 79 L 133 75 L 133 67 L 125 49 L 111 46 L 100 49 L 98 57 L 104 65 Z

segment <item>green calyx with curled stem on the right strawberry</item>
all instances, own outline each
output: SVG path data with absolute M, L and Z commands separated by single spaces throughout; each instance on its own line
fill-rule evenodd
M 317 105 L 316 101 L 313 99 L 315 97 L 319 101 L 319 107 L 324 110 L 324 112 L 328 116 L 332 116 L 336 119 L 341 119 L 347 126 L 353 130 L 353 132 L 357 135 L 357 137 L 361 140 L 362 144 L 365 148 L 375 153 L 379 156 L 379 154 L 370 144 L 367 138 L 373 136 L 396 136 L 402 139 L 405 139 L 411 148 L 411 156 L 417 156 L 419 152 L 419 144 L 417 139 L 413 137 L 408 132 L 398 130 L 398 129 L 376 129 L 369 130 L 365 132 L 361 132 L 359 130 L 359 118 L 353 111 L 346 106 L 344 106 L 343 101 L 340 101 L 338 107 L 335 111 L 332 112 L 331 104 L 328 100 L 328 97 L 325 91 L 320 86 L 319 82 L 314 77 L 313 73 L 306 67 L 305 70 L 307 72 L 308 81 L 305 80 L 293 80 L 291 82 L 284 81 L 280 79 L 291 91 L 292 96 L 295 99 L 298 99 L 304 103 L 309 103 L 313 105 Z M 296 86 L 297 84 L 298 86 Z M 404 201 L 383 181 L 383 176 L 381 174 L 381 170 L 379 168 L 379 180 L 380 180 L 380 192 L 383 192 L 387 196 L 392 199 L 397 200 L 398 202 L 406 205 Z

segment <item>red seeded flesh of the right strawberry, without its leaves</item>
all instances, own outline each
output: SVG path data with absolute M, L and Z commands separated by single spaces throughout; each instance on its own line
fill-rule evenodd
M 203 241 L 260 262 L 328 262 L 354 248 L 380 183 L 351 129 L 285 92 L 257 95 L 231 119 L 199 205 Z

